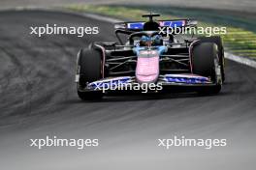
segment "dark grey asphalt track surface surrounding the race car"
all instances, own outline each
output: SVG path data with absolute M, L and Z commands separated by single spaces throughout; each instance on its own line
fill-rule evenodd
M 99 26 L 85 36 L 29 35 L 44 24 Z M 0 13 L 0 169 L 254 170 L 255 69 L 227 61 L 218 96 L 113 96 L 84 102 L 74 83 L 76 54 L 93 41 L 115 40 L 112 24 L 75 14 Z M 99 138 L 86 148 L 29 147 L 30 138 Z M 228 146 L 157 147 L 158 138 L 226 138 Z

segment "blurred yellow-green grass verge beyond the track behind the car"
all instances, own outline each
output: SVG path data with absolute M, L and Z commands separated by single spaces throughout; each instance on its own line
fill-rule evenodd
M 126 20 L 144 20 L 142 14 L 148 14 L 148 11 L 140 10 L 139 8 L 128 8 L 119 6 L 94 6 L 94 5 L 71 5 L 66 7 L 68 10 L 76 12 L 89 12 L 93 14 L 104 14 L 115 18 Z M 180 18 L 177 15 L 162 14 L 161 18 Z M 252 31 L 243 28 L 232 27 L 227 25 L 215 25 L 209 22 L 199 20 L 198 26 L 226 26 L 227 34 L 222 35 L 225 49 L 234 54 L 251 57 L 256 59 L 256 34 Z

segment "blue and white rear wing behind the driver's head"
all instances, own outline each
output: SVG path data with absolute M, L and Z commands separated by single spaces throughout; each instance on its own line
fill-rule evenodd
M 196 20 L 191 19 L 176 19 L 176 20 L 157 20 L 160 27 L 187 27 L 197 26 Z M 143 31 L 144 21 L 118 22 L 114 24 L 115 30 L 123 31 Z

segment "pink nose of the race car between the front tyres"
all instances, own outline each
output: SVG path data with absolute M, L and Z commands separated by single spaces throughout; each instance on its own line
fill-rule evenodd
M 136 79 L 139 83 L 155 82 L 159 75 L 159 55 L 150 57 L 138 56 Z

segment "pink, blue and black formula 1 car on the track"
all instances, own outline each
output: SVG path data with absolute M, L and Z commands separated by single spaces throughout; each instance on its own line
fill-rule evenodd
M 197 21 L 154 20 L 156 16 L 160 14 L 144 14 L 146 22 L 116 23 L 119 43 L 92 42 L 80 49 L 76 74 L 80 99 L 101 99 L 106 93 L 127 90 L 123 87 L 128 84 L 130 89 L 156 85 L 146 92 L 176 88 L 200 94 L 220 92 L 225 80 L 221 38 L 167 34 L 163 28 L 195 28 Z

